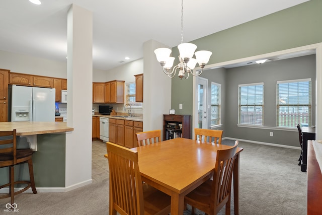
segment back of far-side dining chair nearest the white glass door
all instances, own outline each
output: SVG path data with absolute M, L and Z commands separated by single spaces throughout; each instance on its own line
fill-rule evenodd
M 222 130 L 195 128 L 195 140 L 221 144 Z

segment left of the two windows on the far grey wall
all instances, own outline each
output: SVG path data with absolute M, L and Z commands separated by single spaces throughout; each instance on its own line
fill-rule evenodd
M 238 87 L 238 123 L 263 125 L 264 83 Z

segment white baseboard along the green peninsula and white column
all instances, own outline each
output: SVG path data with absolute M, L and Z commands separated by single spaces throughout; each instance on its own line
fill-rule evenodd
M 63 193 L 63 192 L 68 192 L 70 190 L 74 190 L 77 189 L 79 187 L 83 187 L 85 185 L 91 184 L 93 183 L 93 180 L 87 180 L 87 181 L 83 181 L 81 183 L 77 183 L 77 184 L 73 184 L 71 186 L 68 187 L 36 187 L 37 193 Z M 18 190 L 22 190 L 23 187 L 16 187 L 15 191 Z M 25 191 L 26 193 L 33 193 L 31 188 L 29 188 L 28 190 Z M 9 187 L 4 187 L 2 189 L 0 189 L 0 193 L 9 193 Z

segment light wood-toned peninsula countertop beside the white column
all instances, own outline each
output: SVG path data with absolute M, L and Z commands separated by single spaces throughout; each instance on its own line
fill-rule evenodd
M 66 122 L 0 122 L 0 131 L 17 129 L 17 135 L 35 135 L 73 131 Z

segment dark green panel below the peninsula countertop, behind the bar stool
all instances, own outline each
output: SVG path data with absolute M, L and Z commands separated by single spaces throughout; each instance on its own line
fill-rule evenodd
M 65 187 L 65 137 L 65 133 L 37 135 L 38 150 L 32 157 L 36 188 Z M 26 137 L 17 140 L 17 148 L 29 148 Z M 15 166 L 15 180 L 30 180 L 28 164 Z M 0 184 L 8 182 L 9 168 L 1 168 Z

